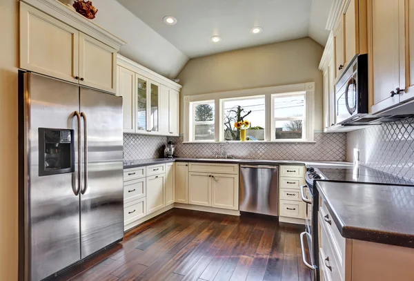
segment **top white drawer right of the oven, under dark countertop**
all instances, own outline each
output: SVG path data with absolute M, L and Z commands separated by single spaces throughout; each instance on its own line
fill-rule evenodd
M 337 229 L 335 222 L 333 222 L 332 215 L 329 213 L 324 200 L 322 200 L 322 206 L 319 209 L 319 219 L 319 223 L 324 225 L 326 228 L 326 234 L 328 235 L 328 238 L 331 239 L 332 249 L 337 256 L 339 266 L 343 266 L 345 261 L 346 239 L 342 237 L 341 233 L 339 233 L 339 230 Z

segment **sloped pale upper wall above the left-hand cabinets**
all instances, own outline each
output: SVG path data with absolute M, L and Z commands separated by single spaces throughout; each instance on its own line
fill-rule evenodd
M 118 1 L 94 0 L 93 4 L 98 8 L 93 21 L 127 42 L 121 55 L 170 79 L 177 77 L 188 61 L 183 52 Z

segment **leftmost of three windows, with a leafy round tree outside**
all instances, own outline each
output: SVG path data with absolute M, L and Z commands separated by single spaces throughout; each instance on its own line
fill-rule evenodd
M 191 140 L 193 142 L 215 140 L 215 105 L 214 101 L 197 101 L 191 103 Z

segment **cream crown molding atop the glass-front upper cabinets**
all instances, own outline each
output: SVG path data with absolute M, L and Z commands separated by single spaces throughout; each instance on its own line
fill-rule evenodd
M 180 91 L 183 86 L 180 84 L 175 83 L 175 81 L 172 81 L 168 79 L 167 77 L 164 77 L 162 75 L 159 75 L 157 72 L 152 71 L 145 66 L 141 66 L 141 64 L 136 63 L 135 61 L 132 61 L 122 55 L 117 56 L 117 64 L 119 66 L 122 66 L 124 68 L 128 68 L 129 70 L 132 70 L 134 72 L 137 72 L 139 75 L 143 75 L 149 79 L 152 79 L 156 81 L 159 84 L 163 84 L 164 86 L 168 86 L 174 90 Z

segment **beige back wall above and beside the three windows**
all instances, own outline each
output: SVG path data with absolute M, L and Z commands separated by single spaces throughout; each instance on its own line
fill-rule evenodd
M 262 88 L 315 81 L 315 130 L 322 131 L 322 72 L 324 47 L 306 37 L 255 48 L 190 59 L 178 75 L 180 133 L 184 133 L 186 95 Z

